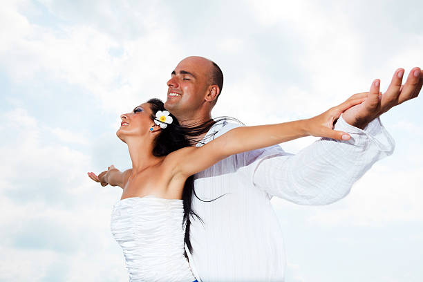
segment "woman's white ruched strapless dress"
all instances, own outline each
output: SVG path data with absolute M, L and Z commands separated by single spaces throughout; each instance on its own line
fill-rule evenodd
M 129 281 L 196 279 L 184 256 L 182 200 L 155 196 L 125 198 L 111 214 L 111 232 L 122 247 Z

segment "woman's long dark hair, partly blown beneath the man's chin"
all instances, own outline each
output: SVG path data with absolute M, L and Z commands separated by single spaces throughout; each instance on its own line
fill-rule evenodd
M 151 99 L 147 103 L 150 104 L 151 111 L 153 111 L 153 115 L 151 115 L 153 120 L 156 119 L 157 111 L 165 111 L 164 104 L 159 99 Z M 198 142 L 189 137 L 196 137 L 202 133 L 207 133 L 207 131 L 209 131 L 209 129 L 212 128 L 216 122 L 225 120 L 225 118 L 221 118 L 219 120 L 207 120 L 201 124 L 194 124 L 194 126 L 185 127 L 180 126 L 178 120 L 173 115 L 170 114 L 170 116 L 173 118 L 173 122 L 169 124 L 166 129 L 162 130 L 157 136 L 155 140 L 156 144 L 153 148 L 153 156 L 167 156 L 173 151 L 184 147 L 189 147 L 192 144 L 195 144 L 195 142 Z M 191 207 L 193 194 L 196 196 L 196 191 L 194 190 L 194 176 L 189 176 L 189 178 L 187 178 L 185 181 L 184 190 L 182 191 L 182 200 L 184 205 L 183 224 L 185 224 L 184 241 L 188 247 L 189 252 L 191 253 L 192 245 L 191 241 L 189 240 L 191 217 L 196 216 L 198 220 L 201 220 L 201 218 L 194 212 Z

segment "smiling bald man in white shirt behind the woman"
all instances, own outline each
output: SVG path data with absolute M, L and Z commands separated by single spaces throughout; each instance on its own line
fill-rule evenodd
M 326 205 L 346 196 L 373 163 L 393 152 L 379 115 L 417 97 L 423 83 L 420 68 L 404 86 L 403 76 L 404 69 L 395 71 L 382 96 L 375 79 L 367 100 L 344 112 L 335 129 L 350 133 L 348 141 L 323 138 L 297 155 L 279 146 L 240 153 L 196 174 L 193 209 L 204 223 L 191 220 L 193 253 L 187 253 L 198 281 L 283 281 L 283 238 L 270 199 Z M 167 85 L 165 108 L 189 126 L 212 118 L 223 74 L 208 59 L 187 57 Z M 198 139 L 209 142 L 236 126 L 220 122 Z

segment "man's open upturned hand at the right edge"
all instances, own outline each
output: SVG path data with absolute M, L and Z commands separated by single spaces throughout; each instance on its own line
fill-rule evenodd
M 403 76 L 404 68 L 398 68 L 388 90 L 382 95 L 379 93 L 380 80 L 375 79 L 370 86 L 367 99 L 346 110 L 342 118 L 348 124 L 364 129 L 369 122 L 389 111 L 393 106 L 417 97 L 423 85 L 423 71 L 420 68 L 413 68 L 404 85 L 402 85 Z

